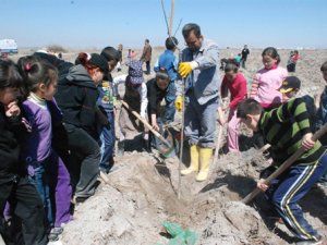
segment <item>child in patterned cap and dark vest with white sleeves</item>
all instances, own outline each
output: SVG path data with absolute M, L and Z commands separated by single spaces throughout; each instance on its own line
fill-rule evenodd
M 147 88 L 143 78 L 142 61 L 131 60 L 129 63 L 129 75 L 116 77 L 113 79 L 117 86 L 120 83 L 125 83 L 125 94 L 123 101 L 125 101 L 130 108 L 146 119 L 147 108 Z M 143 124 L 136 122 L 136 118 L 123 106 L 119 114 L 119 155 L 124 152 L 124 139 L 128 131 L 142 131 Z

